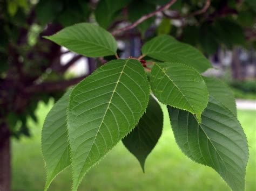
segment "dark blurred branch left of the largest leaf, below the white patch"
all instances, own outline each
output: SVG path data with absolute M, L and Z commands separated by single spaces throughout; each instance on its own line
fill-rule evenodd
M 50 92 L 58 91 L 58 90 L 65 90 L 66 88 L 77 84 L 78 82 L 80 82 L 87 76 L 88 76 L 88 74 L 80 76 L 80 77 L 75 77 L 70 80 L 60 80 L 60 81 L 55 81 L 55 82 L 43 82 L 43 83 L 36 84 L 36 85 L 26 88 L 25 93 L 29 93 L 29 94 L 40 93 L 40 92 L 50 93 Z

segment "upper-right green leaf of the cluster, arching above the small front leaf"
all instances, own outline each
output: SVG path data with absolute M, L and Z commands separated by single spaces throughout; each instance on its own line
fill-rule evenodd
M 145 43 L 142 47 L 142 53 L 160 61 L 184 63 L 195 68 L 199 73 L 211 68 L 211 63 L 198 49 L 180 43 L 165 34 Z

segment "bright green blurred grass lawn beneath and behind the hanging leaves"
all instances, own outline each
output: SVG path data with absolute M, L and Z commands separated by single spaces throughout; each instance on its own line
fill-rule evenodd
M 31 138 L 12 140 L 12 190 L 43 190 L 44 161 L 41 154 L 41 128 L 52 106 L 39 105 L 38 124 L 30 121 Z M 119 143 L 100 163 L 87 173 L 79 190 L 229 190 L 210 167 L 196 164 L 178 148 L 164 112 L 164 130 L 157 146 L 146 160 L 145 174 L 139 162 Z M 238 111 L 238 118 L 248 138 L 250 159 L 247 165 L 246 190 L 256 190 L 256 111 Z M 70 190 L 71 169 L 52 182 L 49 190 Z

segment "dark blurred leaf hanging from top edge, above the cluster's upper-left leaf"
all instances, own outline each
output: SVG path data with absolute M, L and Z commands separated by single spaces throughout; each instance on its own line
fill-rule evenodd
M 101 0 L 95 10 L 95 17 L 100 26 L 107 28 L 117 16 L 117 12 L 129 4 L 131 0 Z

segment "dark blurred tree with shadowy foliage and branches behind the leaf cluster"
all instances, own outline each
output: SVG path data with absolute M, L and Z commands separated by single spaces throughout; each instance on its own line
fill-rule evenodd
M 43 36 L 64 26 L 90 22 L 124 42 L 137 37 L 144 43 L 159 34 L 171 34 L 206 55 L 222 46 L 256 46 L 255 1 L 179 0 L 170 8 L 167 3 L 170 1 L 0 0 L 0 190 L 10 189 L 10 137 L 30 136 L 26 122 L 28 117 L 37 121 L 37 103 L 59 98 L 66 88 L 86 77 L 67 79 L 66 70 L 83 56 L 75 55 L 63 66 L 60 56 L 67 52 Z M 159 6 L 164 9 L 156 11 Z M 90 74 L 111 58 L 87 59 Z

